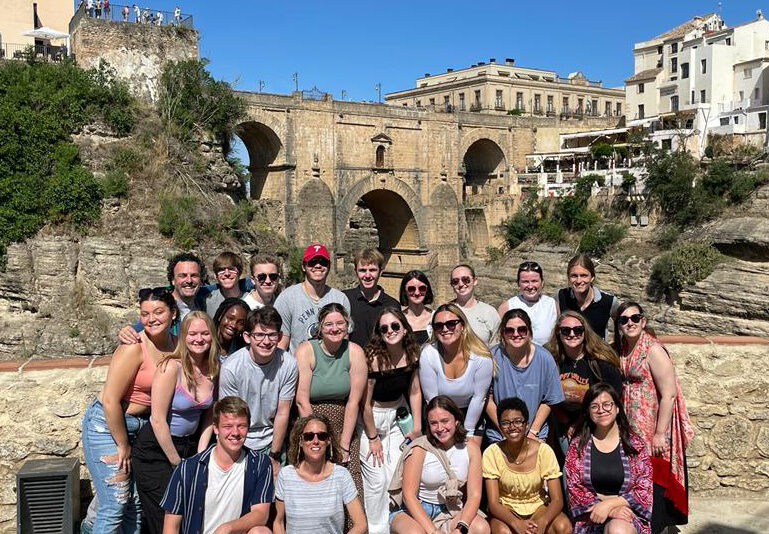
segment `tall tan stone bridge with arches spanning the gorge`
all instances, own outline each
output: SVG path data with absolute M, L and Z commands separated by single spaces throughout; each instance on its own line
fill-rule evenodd
M 484 253 L 515 208 L 524 155 L 557 150 L 560 132 L 612 120 L 438 113 L 301 91 L 238 94 L 248 109 L 237 133 L 252 198 L 280 208 L 276 222 L 297 246 L 329 244 L 337 270 L 357 248 L 377 246 L 385 276 Z

